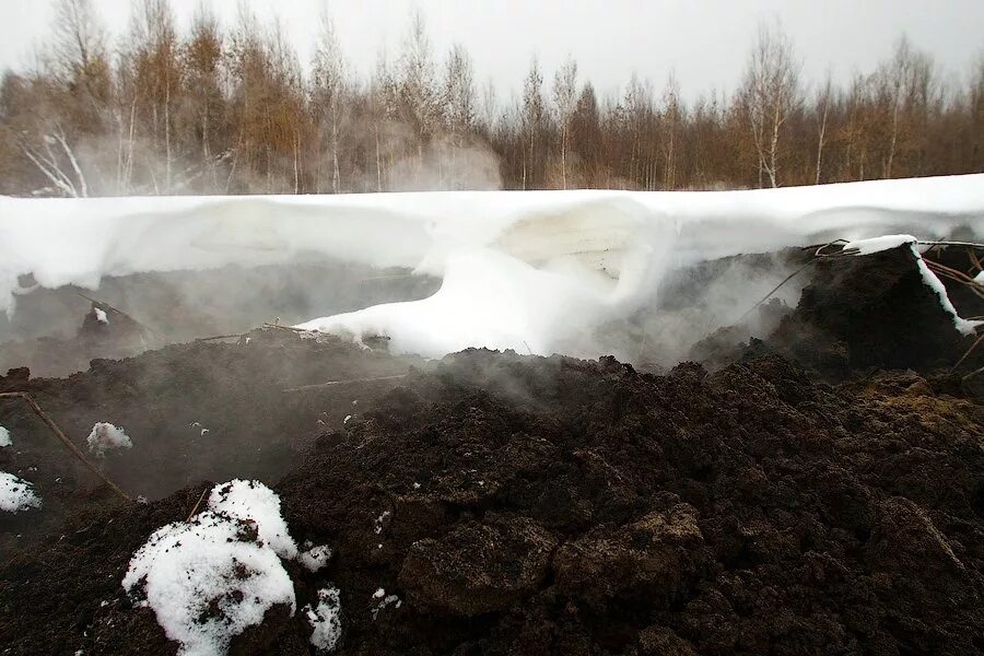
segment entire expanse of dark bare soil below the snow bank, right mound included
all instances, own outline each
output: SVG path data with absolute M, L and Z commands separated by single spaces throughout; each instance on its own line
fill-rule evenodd
M 11 372 L 0 391 L 30 391 L 80 445 L 124 426 L 134 446 L 104 469 L 151 502 L 98 488 L 0 400 L 0 470 L 45 501 L 0 518 L 0 653 L 175 654 L 120 581 L 234 476 L 335 549 L 317 574 L 289 567 L 298 608 L 340 588 L 343 654 L 984 652 L 984 403 L 961 379 L 981 355 L 947 372 L 973 338 L 912 273 L 900 254 L 824 263 L 773 335 L 719 331 L 705 365 L 658 376 L 282 329 Z M 402 604 L 374 616 L 380 587 Z M 309 631 L 270 613 L 233 652 L 307 654 Z

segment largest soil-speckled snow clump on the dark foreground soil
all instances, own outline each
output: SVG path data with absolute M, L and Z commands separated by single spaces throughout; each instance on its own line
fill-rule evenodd
M 151 535 L 130 560 L 122 586 L 150 607 L 186 656 L 225 654 L 274 605 L 296 608 L 280 561 L 296 546 L 280 500 L 257 481 L 215 485 L 209 509 Z

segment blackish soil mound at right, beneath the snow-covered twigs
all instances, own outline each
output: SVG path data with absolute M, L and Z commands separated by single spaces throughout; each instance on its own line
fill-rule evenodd
M 967 267 L 963 253 L 944 249 L 933 259 Z M 777 328 L 754 336 L 741 326 L 723 328 L 699 342 L 694 360 L 722 366 L 742 358 L 780 353 L 827 380 L 867 374 L 879 368 L 932 372 L 950 367 L 973 344 L 925 284 L 909 246 L 865 257 L 820 260 L 794 311 Z M 965 286 L 947 281 L 948 294 L 964 317 L 984 315 L 984 301 Z M 761 314 L 775 314 L 765 304 Z M 774 323 L 773 323 L 774 324 Z M 766 323 L 766 325 L 773 325 Z M 962 364 L 967 373 L 984 365 L 984 350 Z

